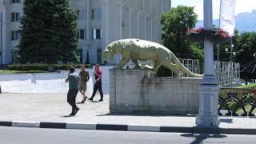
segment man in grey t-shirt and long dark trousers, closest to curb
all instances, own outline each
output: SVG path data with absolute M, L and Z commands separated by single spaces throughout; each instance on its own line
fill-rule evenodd
M 78 113 L 78 106 L 75 104 L 75 98 L 78 94 L 78 84 L 80 82 L 79 75 L 75 73 L 74 67 L 70 67 L 70 73 L 68 74 L 68 77 L 66 78 L 66 82 L 69 82 L 69 88 L 70 90 L 67 93 L 67 102 L 72 106 L 72 112 L 70 115 L 75 115 Z

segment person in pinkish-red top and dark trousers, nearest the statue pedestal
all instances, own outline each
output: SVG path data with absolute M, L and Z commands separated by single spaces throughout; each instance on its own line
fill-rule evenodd
M 95 83 L 94 83 L 94 92 L 92 94 L 92 96 L 89 98 L 90 101 L 93 101 L 94 96 L 97 92 L 97 90 L 99 91 L 99 94 L 101 95 L 101 99 L 98 102 L 102 102 L 103 101 L 103 93 L 102 93 L 102 70 L 99 69 L 99 65 L 95 65 L 95 69 L 94 69 L 94 77 L 95 77 Z

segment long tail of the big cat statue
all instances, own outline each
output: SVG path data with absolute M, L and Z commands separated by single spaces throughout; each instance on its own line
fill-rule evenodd
M 171 54 L 171 59 L 174 62 L 174 64 L 176 64 L 178 66 L 178 68 L 180 70 L 182 70 L 183 73 L 190 75 L 190 77 L 202 78 L 203 74 L 194 74 L 194 73 L 192 73 L 190 70 L 188 70 L 185 66 L 182 65 L 182 62 L 180 62 L 178 60 L 178 58 L 172 52 L 170 52 L 170 54 Z

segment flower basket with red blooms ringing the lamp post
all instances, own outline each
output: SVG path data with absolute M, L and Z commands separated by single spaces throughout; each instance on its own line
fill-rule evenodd
M 200 43 L 203 43 L 204 39 L 207 38 L 210 42 L 214 42 L 214 44 L 222 44 L 228 42 L 230 35 L 221 28 L 217 30 L 205 30 L 201 27 L 198 29 L 189 29 L 187 31 L 187 38 L 189 38 L 191 42 Z

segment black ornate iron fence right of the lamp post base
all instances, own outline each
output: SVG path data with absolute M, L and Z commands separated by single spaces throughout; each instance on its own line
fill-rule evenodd
M 256 89 L 221 88 L 218 98 L 218 114 L 226 110 L 230 116 L 251 116 L 256 113 Z

